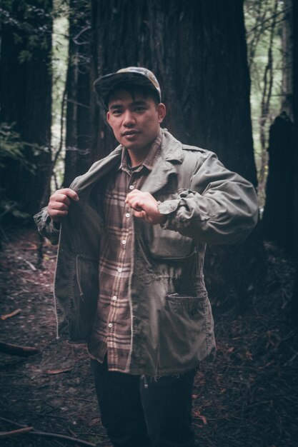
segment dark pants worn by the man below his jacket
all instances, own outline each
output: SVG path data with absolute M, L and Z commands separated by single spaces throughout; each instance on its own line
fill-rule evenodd
M 114 447 L 194 447 L 196 370 L 159 378 L 108 371 L 91 360 L 101 421 Z

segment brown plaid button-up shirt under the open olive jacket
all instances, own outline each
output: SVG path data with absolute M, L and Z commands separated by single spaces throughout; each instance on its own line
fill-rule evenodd
M 162 136 L 159 133 L 144 162 L 129 167 L 126 149 L 121 165 L 110 174 L 104 193 L 106 237 L 101 240 L 99 258 L 99 300 L 88 343 L 91 358 L 104 361 L 109 371 L 128 372 L 131 363 L 131 300 L 129 276 L 132 258 L 132 211 L 126 195 L 139 189 L 159 158 Z

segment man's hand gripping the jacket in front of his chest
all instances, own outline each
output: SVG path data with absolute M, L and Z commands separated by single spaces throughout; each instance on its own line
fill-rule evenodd
M 139 189 L 134 189 L 129 194 L 127 194 L 125 203 L 131 206 L 134 210 L 134 216 L 139 219 L 144 219 L 144 221 L 149 224 L 163 224 L 167 219 L 164 214 L 159 213 L 158 202 L 154 199 L 152 194 L 139 191 Z

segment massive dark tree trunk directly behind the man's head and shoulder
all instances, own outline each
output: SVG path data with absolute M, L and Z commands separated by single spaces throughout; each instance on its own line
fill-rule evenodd
M 92 30 L 93 78 L 124 66 L 151 69 L 162 87 L 169 131 L 216 151 L 229 169 L 257 184 L 242 1 L 94 0 Z M 113 149 L 114 139 L 104 110 L 92 106 L 91 115 L 98 159 Z M 218 274 L 237 278 L 242 296 L 251 287 L 251 248 L 224 251 L 228 268 Z

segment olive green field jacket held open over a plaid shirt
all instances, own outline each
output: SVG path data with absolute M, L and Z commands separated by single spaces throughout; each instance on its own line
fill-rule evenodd
M 86 341 L 99 296 L 99 246 L 105 236 L 100 182 L 121 160 L 121 146 L 96 161 L 71 189 L 79 201 L 57 231 L 46 209 L 36 224 L 58 243 L 54 295 L 59 334 Z M 96 186 L 96 188 L 94 188 Z M 162 152 L 142 191 L 160 201 L 163 226 L 134 218 L 129 278 L 131 349 L 129 372 L 182 373 L 214 348 L 212 310 L 204 285 L 206 243 L 238 243 L 257 223 L 254 187 L 226 169 L 210 151 L 186 146 L 162 131 Z

